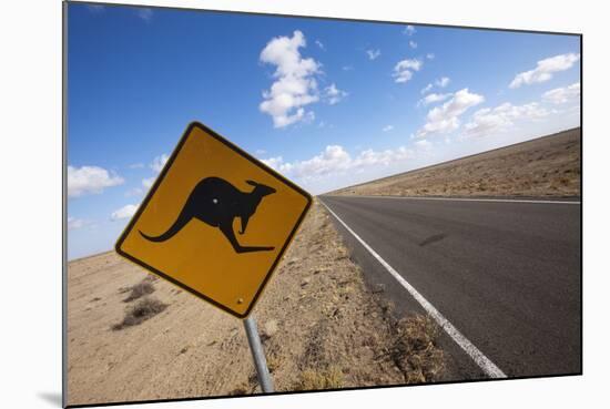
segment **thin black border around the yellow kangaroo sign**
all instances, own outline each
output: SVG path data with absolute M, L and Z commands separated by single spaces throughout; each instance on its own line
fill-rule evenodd
M 201 294 L 200 292 L 189 287 L 184 283 L 179 282 L 177 279 L 169 276 L 167 274 L 154 268 L 153 266 L 144 263 L 143 260 L 141 260 L 139 258 L 135 258 L 134 256 L 132 256 L 129 253 L 125 253 L 124 250 L 121 249 L 121 246 L 123 245 L 123 242 L 129 236 L 129 234 L 132 232 L 133 226 L 135 225 L 135 223 L 138 222 L 138 219 L 142 215 L 142 212 L 149 205 L 149 202 L 151 201 L 152 196 L 155 194 L 156 190 L 159 188 L 159 186 L 161 185 L 161 183 L 165 178 L 165 175 L 167 174 L 170 167 L 172 166 L 175 159 L 177 157 L 180 151 L 182 150 L 182 146 L 184 145 L 184 143 L 186 142 L 186 140 L 190 136 L 193 136 L 193 131 L 195 129 L 199 129 L 199 130 L 205 132 L 206 134 L 209 134 L 210 136 L 214 137 L 216 141 L 221 142 L 226 147 L 231 149 L 232 151 L 234 151 L 238 155 L 243 156 L 247 161 L 252 162 L 254 165 L 261 167 L 263 171 L 270 173 L 272 176 L 279 180 L 284 184 L 288 185 L 289 187 L 292 187 L 293 190 L 295 190 L 296 192 L 298 192 L 299 194 L 305 196 L 305 198 L 307 200 L 307 204 L 305 205 L 305 208 L 303 209 L 303 212 L 301 213 L 301 216 L 298 217 L 295 225 L 293 226 L 293 229 L 292 229 L 291 234 L 288 235 L 287 239 L 284 242 L 284 245 L 283 245 L 282 249 L 279 250 L 279 253 L 277 254 L 277 257 L 275 258 L 275 260 L 271 265 L 270 270 L 265 275 L 265 278 L 263 279 L 263 283 L 261 284 L 261 286 L 256 290 L 256 294 L 254 295 L 254 298 L 250 303 L 250 306 L 247 307 L 247 309 L 244 314 L 240 314 L 240 313 L 226 307 L 225 305 L 215 301 L 214 299 L 207 297 L 206 295 Z M 284 256 L 284 253 L 286 252 L 289 244 L 292 243 L 292 241 L 294 238 L 294 235 L 296 234 L 296 232 L 301 227 L 301 224 L 303 223 L 303 219 L 307 215 L 307 212 L 312 207 L 312 203 L 313 203 L 312 195 L 308 194 L 307 192 L 305 192 L 302 187 L 299 187 L 296 184 L 294 184 L 293 182 L 288 181 L 286 177 L 282 176 L 279 173 L 274 171 L 272 167 L 270 167 L 270 166 L 265 165 L 264 163 L 260 162 L 254 156 L 252 156 L 251 154 L 248 154 L 247 152 L 242 150 L 240 146 L 237 146 L 237 145 L 233 144 L 232 142 L 230 142 L 228 140 L 224 139 L 223 136 L 221 136 L 220 134 L 217 134 L 216 132 L 214 132 L 210 127 L 205 126 L 201 122 L 194 121 L 194 122 L 191 122 L 189 124 L 189 126 L 186 127 L 186 131 L 184 131 L 182 137 L 180 139 L 180 142 L 174 147 L 174 151 L 172 152 L 172 155 L 167 160 L 167 163 L 165 163 L 165 165 L 163 166 L 163 170 L 161 171 L 161 173 L 156 177 L 156 181 L 154 182 L 152 187 L 149 190 L 149 193 L 146 194 L 146 196 L 144 197 L 144 200 L 142 201 L 140 206 L 138 207 L 138 211 L 135 212 L 135 214 L 133 215 L 133 217 L 131 218 L 131 221 L 126 225 L 125 229 L 123 231 L 123 233 L 121 234 L 121 236 L 116 241 L 116 244 L 114 245 L 114 250 L 119 255 L 121 255 L 122 257 L 129 259 L 130 262 L 135 263 L 136 265 L 154 273 L 155 275 L 157 275 L 157 276 L 160 276 L 160 277 L 162 277 L 162 278 L 164 278 L 164 279 L 166 279 L 171 283 L 173 283 L 174 285 L 185 289 L 186 292 L 195 295 L 196 297 L 206 300 L 207 303 L 214 305 L 215 307 L 217 307 L 217 308 L 220 308 L 220 309 L 222 309 L 222 310 L 224 310 L 224 311 L 226 311 L 226 313 L 228 313 L 228 314 L 231 314 L 231 315 L 233 315 L 237 318 L 244 319 L 244 318 L 247 318 L 250 316 L 250 314 L 252 313 L 252 310 L 256 306 L 256 304 L 257 304 L 261 295 L 263 294 L 263 290 L 265 289 L 270 278 L 273 276 L 273 273 L 275 272 L 277 265 L 279 264 L 279 260 L 282 259 L 282 257 Z

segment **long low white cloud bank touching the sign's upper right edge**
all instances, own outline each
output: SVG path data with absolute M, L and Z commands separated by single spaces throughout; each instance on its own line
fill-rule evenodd
M 288 177 L 312 181 L 368 166 L 387 166 L 413 157 L 414 151 L 405 146 L 385 151 L 366 150 L 352 156 L 340 145 L 328 145 L 323 152 L 305 161 L 284 162 L 282 156 L 276 156 L 263 160 L 263 162 Z

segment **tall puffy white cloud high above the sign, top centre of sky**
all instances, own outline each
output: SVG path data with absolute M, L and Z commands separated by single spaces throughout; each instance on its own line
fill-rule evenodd
M 262 62 L 276 67 L 273 74 L 276 81 L 263 92 L 264 101 L 258 106 L 273 117 L 274 127 L 314 117 L 314 113 L 305 111 L 304 106 L 319 100 L 315 74 L 321 65 L 314 59 L 301 55 L 298 49 L 304 47 L 305 37 L 295 31 L 292 38 L 272 39 L 261 52 Z

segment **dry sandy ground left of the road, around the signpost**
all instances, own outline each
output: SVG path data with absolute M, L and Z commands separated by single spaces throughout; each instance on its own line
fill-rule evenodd
M 240 320 L 114 253 L 71 262 L 68 276 L 70 405 L 260 391 Z M 438 328 L 398 321 L 377 297 L 316 203 L 254 313 L 276 389 L 443 379 Z M 139 303 L 160 313 L 125 325 Z

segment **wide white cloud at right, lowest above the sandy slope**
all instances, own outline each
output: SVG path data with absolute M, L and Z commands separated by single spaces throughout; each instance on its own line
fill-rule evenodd
M 506 102 L 494 109 L 484 108 L 472 114 L 470 122 L 464 125 L 465 136 L 489 136 L 515 125 L 517 121 L 536 121 L 548 116 L 550 112 L 537 102 L 512 105 Z

